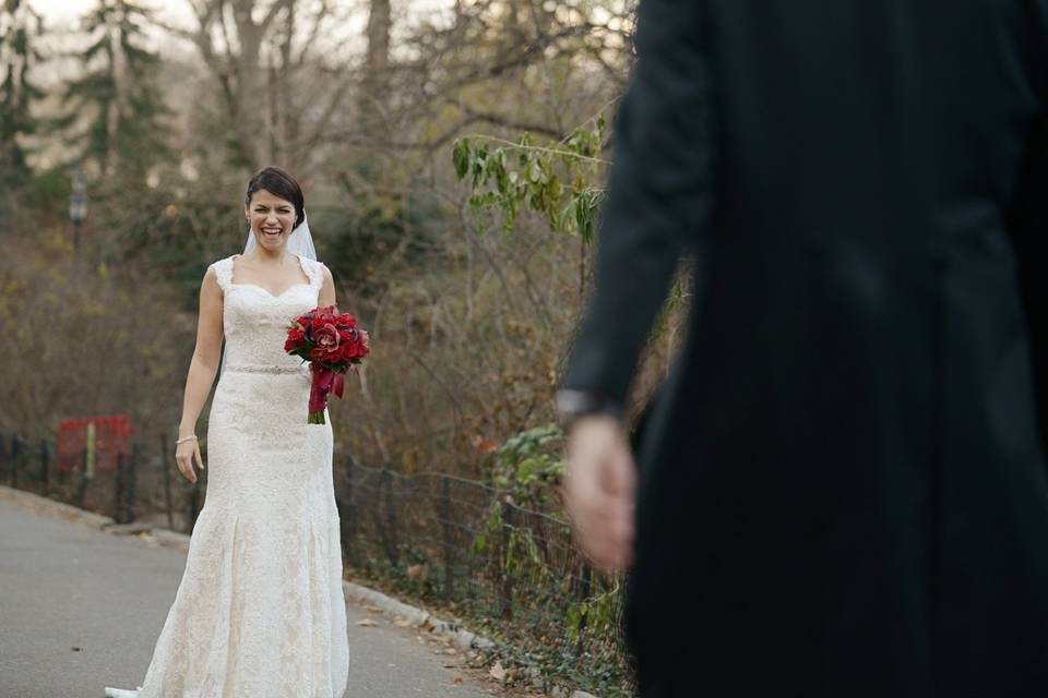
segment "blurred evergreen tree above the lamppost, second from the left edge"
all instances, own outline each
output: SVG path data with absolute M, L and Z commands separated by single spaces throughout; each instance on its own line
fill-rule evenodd
M 143 178 L 166 154 L 159 57 L 144 48 L 151 21 L 152 11 L 133 0 L 98 0 L 83 20 L 85 72 L 66 87 L 69 111 L 59 127 L 73 132 L 73 161 L 95 164 L 104 178 Z

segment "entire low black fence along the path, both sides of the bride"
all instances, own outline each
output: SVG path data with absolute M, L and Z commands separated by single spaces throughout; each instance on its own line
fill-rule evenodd
M 0 434 L 0 483 L 111 516 L 191 532 L 205 482 L 177 471 L 164 436 L 88 477 L 86 453 L 53 467 L 53 444 Z M 206 471 L 200 473 L 206 474 Z M 437 472 L 405 476 L 353 456 L 335 464 L 343 557 L 353 576 L 499 641 L 510 676 L 540 672 L 603 696 L 631 693 L 620 580 L 594 570 L 567 521 L 510 492 Z

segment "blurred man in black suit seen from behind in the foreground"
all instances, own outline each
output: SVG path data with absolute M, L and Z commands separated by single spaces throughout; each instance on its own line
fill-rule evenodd
M 1048 696 L 1048 0 L 641 0 L 636 48 L 558 400 L 642 696 Z

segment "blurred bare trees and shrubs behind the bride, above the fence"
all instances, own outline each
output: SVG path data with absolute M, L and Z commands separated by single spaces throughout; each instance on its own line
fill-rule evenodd
M 146 442 L 174 434 L 200 280 L 242 249 L 250 174 L 279 164 L 340 305 L 372 337 L 331 406 L 336 453 L 523 488 L 561 516 L 560 442 L 539 479 L 507 454 L 553 421 L 634 1 L 165 4 L 93 0 L 62 26 L 43 0 L 0 3 L 0 431 L 47 438 L 62 419 L 127 413 Z

